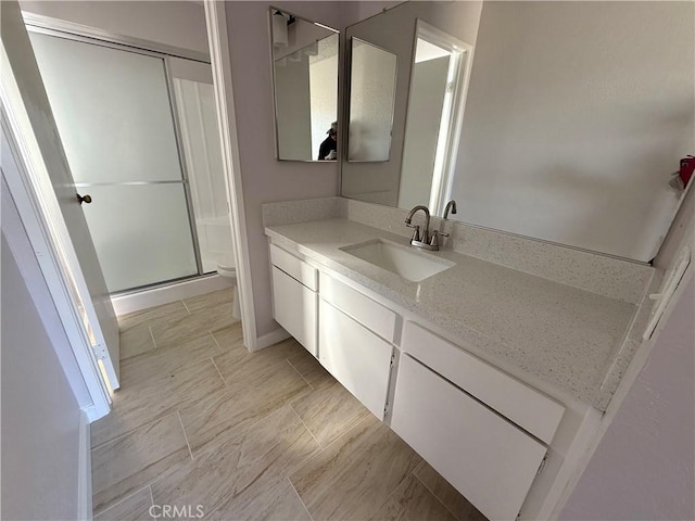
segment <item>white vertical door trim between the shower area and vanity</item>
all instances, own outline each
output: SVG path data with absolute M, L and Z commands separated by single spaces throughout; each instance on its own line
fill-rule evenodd
M 237 263 L 237 288 L 241 308 L 241 328 L 243 344 L 249 351 L 257 351 L 256 318 L 251 288 L 251 258 L 249 257 L 249 238 L 247 234 L 247 217 L 243 203 L 241 165 L 239 162 L 239 140 L 237 115 L 231 85 L 231 60 L 229 55 L 229 38 L 227 35 L 227 15 L 225 2 L 204 0 L 207 41 L 213 67 L 213 88 L 219 136 L 222 141 L 225 183 L 229 201 L 231 219 L 231 241 Z

